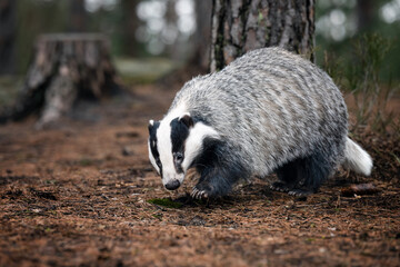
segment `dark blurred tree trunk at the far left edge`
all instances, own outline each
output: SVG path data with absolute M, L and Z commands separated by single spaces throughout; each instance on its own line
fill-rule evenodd
M 17 1 L 0 0 L 0 75 L 14 71 Z

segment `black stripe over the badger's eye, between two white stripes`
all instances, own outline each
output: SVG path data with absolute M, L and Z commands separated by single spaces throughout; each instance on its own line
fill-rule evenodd
M 184 141 L 189 136 L 189 128 L 182 121 L 179 121 L 178 118 L 173 119 L 170 126 L 174 167 L 177 172 L 181 174 L 183 172 L 182 161 L 184 159 Z

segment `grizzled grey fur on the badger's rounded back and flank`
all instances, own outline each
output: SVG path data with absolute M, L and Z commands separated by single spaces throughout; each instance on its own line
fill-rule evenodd
M 316 151 L 343 158 L 347 108 L 318 67 L 279 48 L 258 49 L 223 70 L 192 79 L 169 112 L 186 109 L 214 128 L 252 175 L 266 176 Z M 333 146 L 337 151 L 327 144 Z M 334 155 L 334 156 L 333 156 Z

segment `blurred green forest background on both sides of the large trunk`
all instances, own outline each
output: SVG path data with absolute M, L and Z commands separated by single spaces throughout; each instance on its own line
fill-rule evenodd
M 152 82 L 188 65 L 203 72 L 209 58 L 211 3 L 0 0 L 0 106 L 16 98 L 32 58 L 34 40 L 41 33 L 104 33 L 111 41 L 118 73 L 128 85 Z M 387 99 L 399 89 L 399 33 L 400 0 L 316 3 L 316 61 L 342 90 L 356 97 L 362 93 L 362 99 L 356 101 L 361 123 L 373 109 L 367 102 L 377 102 L 373 99 L 382 91 Z M 367 98 L 366 92 L 370 93 Z M 377 116 L 382 120 L 382 115 Z M 383 125 L 384 129 L 391 120 L 383 119 L 379 127 Z

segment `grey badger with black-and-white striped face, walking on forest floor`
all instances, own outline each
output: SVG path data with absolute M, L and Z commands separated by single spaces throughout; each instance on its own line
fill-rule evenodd
M 184 83 L 167 115 L 150 120 L 148 147 L 169 190 L 196 168 L 197 199 L 272 172 L 279 179 L 271 189 L 308 196 L 340 165 L 366 176 L 372 168 L 348 137 L 347 107 L 332 79 L 281 48 L 250 51 Z

